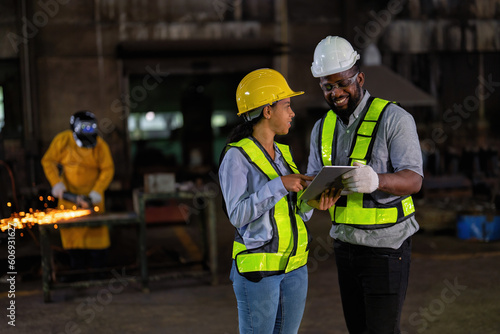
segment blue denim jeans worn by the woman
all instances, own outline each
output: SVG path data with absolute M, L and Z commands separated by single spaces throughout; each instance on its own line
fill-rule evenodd
M 230 279 L 240 334 L 297 333 L 306 305 L 307 266 L 252 282 L 238 274 L 233 261 Z

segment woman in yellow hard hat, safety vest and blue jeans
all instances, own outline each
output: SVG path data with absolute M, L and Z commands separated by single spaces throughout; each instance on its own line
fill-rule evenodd
M 290 89 L 272 69 L 247 74 L 236 90 L 238 125 L 219 168 L 224 208 L 236 228 L 230 278 L 238 304 L 240 333 L 297 333 L 307 295 L 309 236 L 304 221 L 313 208 L 327 210 L 338 194 L 297 201 L 313 178 L 299 173 L 287 145 L 295 116 Z

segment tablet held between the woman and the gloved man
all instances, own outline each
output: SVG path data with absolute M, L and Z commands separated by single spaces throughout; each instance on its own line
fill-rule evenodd
M 340 176 L 354 168 L 359 168 L 359 166 L 323 166 L 323 169 L 307 186 L 299 199 L 306 202 L 310 199 L 319 199 L 321 193 L 326 189 L 342 188 Z

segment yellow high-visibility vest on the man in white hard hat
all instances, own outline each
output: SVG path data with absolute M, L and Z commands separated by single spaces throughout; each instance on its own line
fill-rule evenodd
M 359 162 L 367 164 L 371 158 L 373 142 L 380 118 L 391 103 L 379 98 L 370 98 L 369 109 L 360 121 L 356 130 L 351 153 L 350 164 Z M 332 165 L 335 141 L 335 125 L 337 115 L 330 110 L 322 121 L 319 147 L 324 166 Z M 376 229 L 392 226 L 415 214 L 411 196 L 400 197 L 387 204 L 376 202 L 370 194 L 351 193 L 341 196 L 337 203 L 329 209 L 333 224 L 348 224 L 362 229 Z

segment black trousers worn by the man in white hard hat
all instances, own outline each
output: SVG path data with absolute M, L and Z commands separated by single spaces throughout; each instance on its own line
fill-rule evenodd
M 400 248 L 334 241 L 340 295 L 350 334 L 399 334 L 410 273 L 411 239 Z

